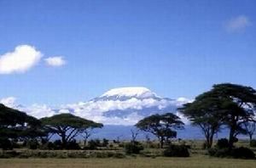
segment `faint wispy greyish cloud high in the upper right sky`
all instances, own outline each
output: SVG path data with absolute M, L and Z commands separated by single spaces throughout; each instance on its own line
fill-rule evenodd
M 225 28 L 228 32 L 243 31 L 247 26 L 251 25 L 251 21 L 245 15 L 239 15 L 226 22 Z

